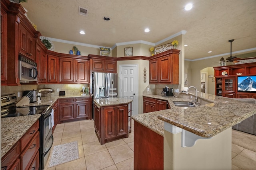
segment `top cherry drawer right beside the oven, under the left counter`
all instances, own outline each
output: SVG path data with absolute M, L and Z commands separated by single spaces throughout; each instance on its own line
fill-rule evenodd
M 34 137 L 38 129 L 39 129 L 39 121 L 36 121 L 36 123 L 34 123 L 34 125 L 32 125 L 32 127 L 30 127 L 30 129 L 25 133 L 25 135 L 23 135 L 22 138 L 20 139 L 20 150 L 24 150 L 24 148 Z

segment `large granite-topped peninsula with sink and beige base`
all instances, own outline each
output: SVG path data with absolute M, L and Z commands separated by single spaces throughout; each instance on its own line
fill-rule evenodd
M 205 93 L 198 93 L 201 106 L 189 108 L 177 107 L 173 101 L 194 100 L 191 93 L 173 98 L 145 97 L 166 100 L 171 108 L 132 116 L 135 169 L 142 164 L 136 163 L 141 160 L 136 158 L 140 151 L 137 125 L 163 137 L 164 169 L 231 169 L 231 127 L 255 114 L 256 105 Z

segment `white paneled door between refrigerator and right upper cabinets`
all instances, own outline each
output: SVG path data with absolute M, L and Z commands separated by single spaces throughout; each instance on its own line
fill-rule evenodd
M 119 87 L 119 97 L 133 100 L 132 115 L 138 115 L 138 64 L 119 66 Z

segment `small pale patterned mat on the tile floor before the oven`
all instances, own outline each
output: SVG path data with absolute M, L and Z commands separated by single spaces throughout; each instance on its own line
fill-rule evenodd
M 56 145 L 53 148 L 48 168 L 70 162 L 79 158 L 78 142 Z

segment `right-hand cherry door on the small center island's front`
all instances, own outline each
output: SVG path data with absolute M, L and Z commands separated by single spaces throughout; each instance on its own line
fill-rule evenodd
M 127 106 L 116 107 L 116 135 L 128 133 L 128 108 Z

